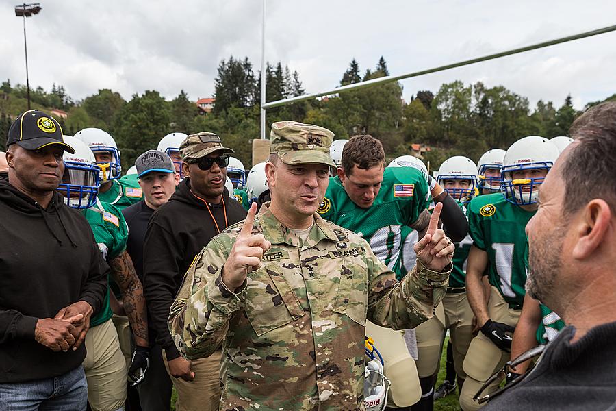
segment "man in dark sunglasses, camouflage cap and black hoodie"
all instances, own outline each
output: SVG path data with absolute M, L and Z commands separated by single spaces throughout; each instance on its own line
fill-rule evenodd
M 188 136 L 180 146 L 185 178 L 150 219 L 144 244 L 144 290 L 149 323 L 164 349 L 177 390 L 176 410 L 218 410 L 220 356 L 190 362 L 175 348 L 167 328 L 169 309 L 194 257 L 222 230 L 246 218 L 224 188 L 232 149 L 214 133 Z

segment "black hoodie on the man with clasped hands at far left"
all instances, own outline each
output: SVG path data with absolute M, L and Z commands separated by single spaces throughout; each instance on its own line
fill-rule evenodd
M 54 193 L 47 209 L 0 179 L 0 383 L 62 375 L 86 357 L 34 340 L 38 319 L 86 301 L 98 312 L 109 267 L 92 229 Z

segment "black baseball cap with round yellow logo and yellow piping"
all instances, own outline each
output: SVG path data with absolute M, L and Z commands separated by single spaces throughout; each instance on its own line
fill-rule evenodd
M 75 154 L 73 147 L 64 142 L 60 123 L 49 114 L 38 110 L 28 110 L 17 116 L 9 129 L 6 147 L 13 143 L 27 150 L 60 145 L 64 151 Z

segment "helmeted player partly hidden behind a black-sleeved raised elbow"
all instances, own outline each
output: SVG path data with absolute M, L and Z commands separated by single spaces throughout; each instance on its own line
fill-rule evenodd
M 478 192 L 476 164 L 461 155 L 448 158 L 441 164 L 436 180 L 457 201 L 464 214 L 467 214 L 466 205 Z M 449 391 L 455 390 L 456 384 L 462 386 L 466 376 L 462 364 L 472 340 L 473 312 L 468 304 L 465 288 L 466 261 L 471 244 L 472 240 L 468 235 L 456 243 L 452 260 L 453 271 L 449 277 L 447 293 L 441 306 L 437 307 L 437 315 L 415 329 L 419 375 L 422 378 L 432 377 L 433 381 L 439 371 L 445 332 L 449 330 L 454 369 L 458 376 L 457 381 L 455 377 L 451 377 L 452 380 L 448 382 Z

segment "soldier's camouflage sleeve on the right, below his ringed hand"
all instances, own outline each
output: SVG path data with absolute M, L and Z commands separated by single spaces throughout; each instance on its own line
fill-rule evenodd
M 368 319 L 376 325 L 393 329 L 412 329 L 432 318 L 447 289 L 450 264 L 443 273 L 428 270 L 420 262 L 413 270 L 396 280 L 393 271 L 378 260 L 369 248 Z

